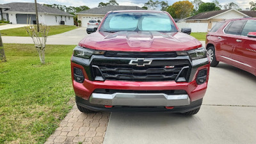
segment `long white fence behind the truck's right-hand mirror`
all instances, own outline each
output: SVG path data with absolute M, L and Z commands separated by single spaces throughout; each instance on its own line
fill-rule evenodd
M 186 23 L 186 22 L 177 22 L 176 23 L 179 29 L 181 28 L 191 28 L 192 33 L 206 33 L 208 30 L 207 23 Z

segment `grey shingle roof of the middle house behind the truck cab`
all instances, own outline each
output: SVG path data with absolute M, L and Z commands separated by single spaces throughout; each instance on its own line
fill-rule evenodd
M 83 13 L 90 13 L 90 14 L 102 14 L 105 15 L 109 11 L 115 11 L 115 10 L 145 10 L 144 8 L 140 8 L 138 6 L 104 6 L 101 8 L 91 8 L 90 10 L 84 10 L 82 12 L 79 12 L 77 14 L 83 14 Z

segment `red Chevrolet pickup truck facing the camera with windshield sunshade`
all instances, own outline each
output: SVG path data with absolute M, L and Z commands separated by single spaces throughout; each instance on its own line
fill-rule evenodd
M 182 33 L 183 32 L 183 33 Z M 209 79 L 202 44 L 158 11 L 108 12 L 74 49 L 77 108 L 198 113 Z

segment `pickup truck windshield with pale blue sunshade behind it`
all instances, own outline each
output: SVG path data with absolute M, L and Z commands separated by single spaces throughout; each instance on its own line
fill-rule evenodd
M 117 12 L 109 13 L 100 31 L 161 31 L 170 33 L 177 32 L 177 29 L 166 13 Z

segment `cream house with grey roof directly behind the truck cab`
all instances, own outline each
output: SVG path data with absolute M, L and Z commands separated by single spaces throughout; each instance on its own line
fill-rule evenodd
M 84 10 L 82 12 L 76 13 L 77 20 L 81 20 L 82 26 L 87 27 L 89 20 L 100 20 L 105 17 L 106 13 L 115 10 L 145 10 L 138 6 L 104 6 L 102 8 L 92 8 L 90 10 Z

